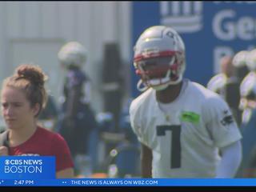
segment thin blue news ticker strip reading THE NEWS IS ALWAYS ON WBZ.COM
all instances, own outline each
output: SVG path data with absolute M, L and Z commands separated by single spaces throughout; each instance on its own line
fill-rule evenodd
M 255 178 L 0 179 L 1 186 L 256 186 Z

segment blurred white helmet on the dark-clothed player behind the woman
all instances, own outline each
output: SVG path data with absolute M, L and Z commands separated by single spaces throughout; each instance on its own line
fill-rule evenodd
M 58 52 L 58 59 L 65 67 L 81 67 L 86 62 L 86 58 L 86 48 L 79 42 L 68 42 Z

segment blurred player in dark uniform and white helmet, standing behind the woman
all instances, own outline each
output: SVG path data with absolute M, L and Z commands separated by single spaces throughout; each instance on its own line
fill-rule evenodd
M 86 58 L 86 48 L 79 42 L 68 42 L 58 52 L 61 66 L 66 70 L 58 131 L 70 146 L 75 174 L 84 175 L 90 174 L 88 138 L 97 126 L 90 108 L 90 79 L 82 71 Z

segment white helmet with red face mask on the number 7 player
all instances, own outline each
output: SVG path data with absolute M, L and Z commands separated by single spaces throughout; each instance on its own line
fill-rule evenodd
M 151 26 L 134 46 L 134 67 L 141 77 L 138 90 L 164 90 L 178 84 L 186 68 L 185 60 L 185 46 L 179 34 L 167 26 Z

